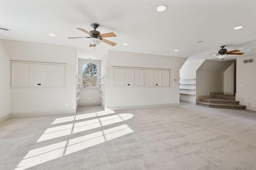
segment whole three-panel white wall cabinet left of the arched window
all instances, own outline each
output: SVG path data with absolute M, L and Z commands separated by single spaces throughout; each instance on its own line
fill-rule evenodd
M 66 64 L 11 61 L 12 87 L 64 87 Z

